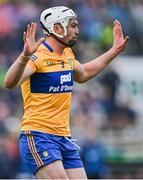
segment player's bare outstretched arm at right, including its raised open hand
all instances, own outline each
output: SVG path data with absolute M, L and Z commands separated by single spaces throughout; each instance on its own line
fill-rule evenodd
M 77 61 L 74 71 L 74 80 L 76 82 L 83 83 L 96 76 L 125 49 L 129 37 L 124 38 L 121 24 L 117 20 L 114 22 L 113 36 L 113 46 L 109 51 L 85 64 L 80 64 Z

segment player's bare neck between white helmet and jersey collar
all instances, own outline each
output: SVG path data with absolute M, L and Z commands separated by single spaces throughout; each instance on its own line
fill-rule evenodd
M 58 42 L 56 39 L 52 37 L 47 37 L 46 38 L 46 43 L 48 43 L 53 49 L 56 54 L 62 55 L 63 51 L 65 49 L 65 46 Z

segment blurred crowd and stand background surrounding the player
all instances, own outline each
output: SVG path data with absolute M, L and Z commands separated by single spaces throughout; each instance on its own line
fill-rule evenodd
M 85 63 L 112 46 L 113 21 L 130 36 L 126 50 L 102 73 L 73 91 L 71 128 L 90 179 L 143 178 L 143 0 L 0 0 L 0 178 L 35 178 L 21 161 L 23 114 L 20 88 L 3 79 L 23 48 L 23 31 L 43 9 L 64 5 L 78 14 L 73 48 Z

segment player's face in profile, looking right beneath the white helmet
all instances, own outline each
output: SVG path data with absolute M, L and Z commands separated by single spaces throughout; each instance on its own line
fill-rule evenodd
M 75 44 L 78 35 L 79 35 L 78 22 L 77 19 L 73 18 L 69 20 L 69 25 L 67 27 L 67 36 L 64 38 L 65 43 L 71 45 Z

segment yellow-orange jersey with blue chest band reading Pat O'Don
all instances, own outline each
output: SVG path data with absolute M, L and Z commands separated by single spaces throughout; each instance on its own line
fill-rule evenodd
M 28 64 L 34 74 L 21 85 L 24 115 L 21 130 L 70 136 L 70 106 L 75 56 L 65 48 L 59 56 L 44 41 Z

